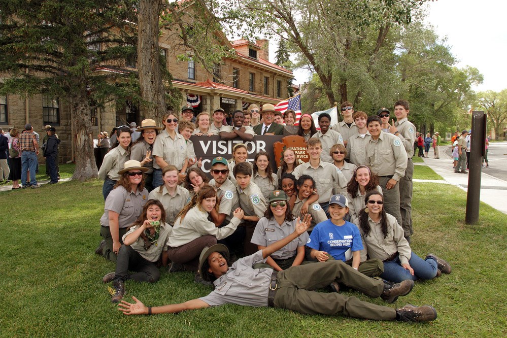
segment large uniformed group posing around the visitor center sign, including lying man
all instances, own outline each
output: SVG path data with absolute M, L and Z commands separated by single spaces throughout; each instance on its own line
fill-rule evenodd
M 123 298 L 127 280 L 156 282 L 160 266 L 193 272 L 196 282 L 215 290 L 153 309 L 122 300 L 122 311 L 238 303 L 379 320 L 436 318 L 429 306 L 394 310 L 338 292 L 350 287 L 393 302 L 412 290 L 414 280 L 451 272 L 447 261 L 433 254 L 422 259 L 410 248 L 415 128 L 406 101 L 394 105 L 397 121 L 388 131 L 381 117 L 354 113 L 348 102 L 341 107 L 344 120 L 332 127 L 330 116 L 321 114 L 318 132 L 311 117 L 301 127 L 302 115 L 298 128 L 308 163 L 288 148 L 274 173 L 269 154 L 260 151 L 249 162 L 247 146 L 239 143 L 231 159 L 213 159 L 210 181 L 193 152 L 192 134 L 251 141 L 254 134 L 283 134 L 287 125 L 274 122 L 278 113 L 268 104 L 260 112 L 250 107 L 251 123 L 258 123 L 253 128 L 244 126 L 242 111 L 232 114 L 232 126 L 218 125 L 221 110 L 192 123 L 190 108 L 182 108 L 181 119 L 165 114 L 163 129 L 142 121 L 133 144 L 130 128 L 116 131 L 99 171 L 105 211 L 96 253 L 116 262 L 116 271 L 103 278 L 113 282 L 113 302 Z M 322 287 L 331 293 L 313 291 Z

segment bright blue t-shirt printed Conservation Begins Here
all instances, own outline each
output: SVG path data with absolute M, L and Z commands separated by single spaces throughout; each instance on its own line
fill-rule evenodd
M 363 249 L 361 234 L 355 224 L 345 221 L 344 225 L 337 226 L 330 219 L 313 228 L 307 246 L 325 251 L 334 259 L 344 262 L 352 258 L 352 251 Z

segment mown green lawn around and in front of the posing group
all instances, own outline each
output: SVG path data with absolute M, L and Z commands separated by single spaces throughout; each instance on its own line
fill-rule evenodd
M 391 307 L 429 304 L 425 324 L 306 316 L 272 308 L 223 306 L 178 315 L 127 317 L 109 301 L 102 276 L 114 264 L 95 255 L 103 213 L 102 182 L 67 182 L 0 193 L 0 335 L 2 336 L 248 336 L 448 337 L 507 335 L 505 215 L 481 204 L 480 222 L 464 224 L 465 193 L 415 183 L 413 250 L 450 261 L 451 275 L 418 282 Z M 452 197 L 452 198 L 451 198 Z M 434 205 L 433 201 L 438 201 Z M 206 295 L 190 273 L 162 273 L 156 284 L 127 281 L 126 296 L 158 306 Z M 358 292 L 362 300 L 383 304 Z

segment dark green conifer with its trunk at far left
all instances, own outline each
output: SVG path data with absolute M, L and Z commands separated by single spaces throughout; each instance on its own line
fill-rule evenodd
M 73 178 L 97 176 L 89 99 L 138 99 L 137 76 L 122 70 L 135 55 L 130 0 L 0 1 L 0 92 L 68 100 L 74 134 Z

